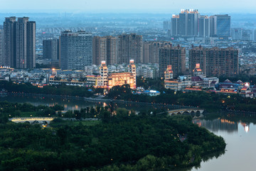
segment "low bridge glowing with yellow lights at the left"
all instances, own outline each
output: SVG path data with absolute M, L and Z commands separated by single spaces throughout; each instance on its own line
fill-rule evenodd
M 31 118 L 9 118 L 9 121 L 15 122 L 15 123 L 50 123 L 50 121 L 53 121 L 54 118 L 40 118 L 40 117 L 31 117 Z

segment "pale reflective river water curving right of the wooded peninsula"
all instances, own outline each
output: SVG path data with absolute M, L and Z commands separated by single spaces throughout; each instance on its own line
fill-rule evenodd
M 192 171 L 256 170 L 256 126 L 254 123 L 234 120 L 237 119 L 231 117 L 194 121 L 198 126 L 203 126 L 215 135 L 222 136 L 227 146 L 224 155 L 201 162 L 201 167 L 193 168 Z

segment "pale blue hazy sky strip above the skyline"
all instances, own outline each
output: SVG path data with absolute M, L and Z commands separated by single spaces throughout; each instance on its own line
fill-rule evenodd
M 256 13 L 255 0 L 0 0 L 1 12 Z

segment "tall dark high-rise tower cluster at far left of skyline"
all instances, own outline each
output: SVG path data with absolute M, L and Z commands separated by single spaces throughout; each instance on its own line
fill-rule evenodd
M 3 64 L 16 68 L 36 67 L 36 22 L 28 17 L 6 17 Z

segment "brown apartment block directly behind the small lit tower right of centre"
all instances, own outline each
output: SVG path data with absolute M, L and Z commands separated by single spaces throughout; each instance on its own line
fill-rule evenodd
M 159 49 L 159 76 L 164 77 L 164 71 L 171 65 L 174 77 L 185 71 L 186 49 L 181 46 L 166 45 Z

